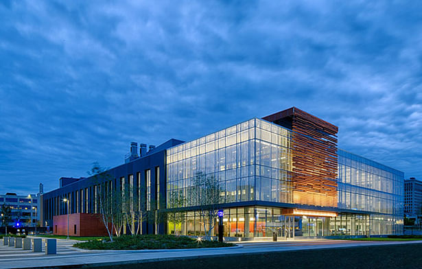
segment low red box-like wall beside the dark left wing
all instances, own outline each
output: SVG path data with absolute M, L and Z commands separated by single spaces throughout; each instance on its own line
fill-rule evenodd
M 76 225 L 76 233 L 75 233 Z M 111 231 L 111 225 L 109 225 Z M 53 217 L 54 235 L 67 235 L 67 215 Z M 108 236 L 100 214 L 75 213 L 69 214 L 70 236 Z

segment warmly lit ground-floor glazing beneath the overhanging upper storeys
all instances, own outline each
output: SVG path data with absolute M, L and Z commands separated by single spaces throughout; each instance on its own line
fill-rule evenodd
M 335 218 L 282 215 L 279 208 L 241 207 L 224 209 L 224 237 L 326 237 L 368 235 L 369 215 L 340 214 Z M 207 228 L 207 227 L 206 227 Z M 197 211 L 183 214 L 176 234 L 203 236 L 204 222 Z M 172 231 L 172 234 L 174 231 Z M 218 234 L 218 224 L 211 236 Z

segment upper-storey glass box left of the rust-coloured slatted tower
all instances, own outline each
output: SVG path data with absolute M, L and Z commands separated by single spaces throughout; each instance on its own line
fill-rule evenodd
M 169 197 L 185 199 L 198 174 L 218 179 L 222 203 L 263 200 L 291 202 L 290 131 L 250 119 L 167 150 Z

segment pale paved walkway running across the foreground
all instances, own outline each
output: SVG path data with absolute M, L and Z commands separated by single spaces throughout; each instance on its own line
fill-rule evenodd
M 44 241 L 44 240 L 43 240 Z M 237 254 L 270 253 L 289 250 L 321 248 L 347 248 L 399 244 L 412 242 L 365 242 L 333 239 L 294 240 L 284 242 L 239 242 L 233 248 L 204 248 L 186 250 L 80 250 L 73 248 L 74 240 L 58 239 L 57 255 L 32 253 L 10 246 L 0 246 L 0 268 L 36 268 L 45 266 L 77 266 L 83 264 L 114 264 L 139 260 L 168 260 L 183 257 L 220 256 Z M 43 250 L 44 250 L 43 242 Z

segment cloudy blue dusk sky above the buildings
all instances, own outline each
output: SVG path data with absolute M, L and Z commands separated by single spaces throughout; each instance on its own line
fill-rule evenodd
M 0 1 L 0 193 L 296 106 L 422 180 L 419 1 Z

